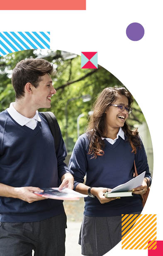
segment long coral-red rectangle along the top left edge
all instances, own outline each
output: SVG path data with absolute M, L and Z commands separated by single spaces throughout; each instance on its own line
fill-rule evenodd
M 2 0 L 0 10 L 86 10 L 86 0 Z

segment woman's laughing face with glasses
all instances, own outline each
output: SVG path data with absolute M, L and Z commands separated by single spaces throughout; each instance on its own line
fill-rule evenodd
M 124 105 L 125 107 L 129 106 L 129 100 L 124 95 L 119 95 L 117 99 L 112 103 L 114 105 Z M 106 113 L 106 125 L 107 129 L 109 128 L 119 128 L 123 127 L 125 121 L 129 117 L 129 113 L 126 109 L 123 111 L 120 110 L 118 107 L 115 106 L 109 106 Z

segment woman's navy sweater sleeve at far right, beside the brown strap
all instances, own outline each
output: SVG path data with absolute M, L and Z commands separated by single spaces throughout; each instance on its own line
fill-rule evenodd
M 136 148 L 136 155 L 135 155 L 135 164 L 138 174 L 145 173 L 145 177 L 148 177 L 150 179 L 150 185 L 151 185 L 151 173 L 149 172 L 149 166 L 147 161 L 147 155 L 144 148 L 144 145 L 141 141 L 141 148 Z

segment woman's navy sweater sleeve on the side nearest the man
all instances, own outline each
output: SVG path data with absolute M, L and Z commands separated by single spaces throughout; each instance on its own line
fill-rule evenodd
M 87 144 L 88 138 L 85 134 L 81 135 L 75 143 L 73 153 L 69 162 L 69 170 L 74 176 L 74 190 L 79 183 L 84 182 L 84 176 L 87 172 Z

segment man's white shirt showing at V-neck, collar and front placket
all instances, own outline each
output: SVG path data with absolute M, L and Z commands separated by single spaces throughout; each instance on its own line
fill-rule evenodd
M 10 107 L 7 108 L 8 113 L 11 117 L 21 126 L 26 125 L 27 127 L 34 130 L 37 125 L 37 121 L 41 122 L 41 118 L 39 117 L 39 113 L 36 110 L 36 114 L 33 118 L 27 118 L 24 115 L 21 115 L 13 106 L 14 102 L 10 103 Z

